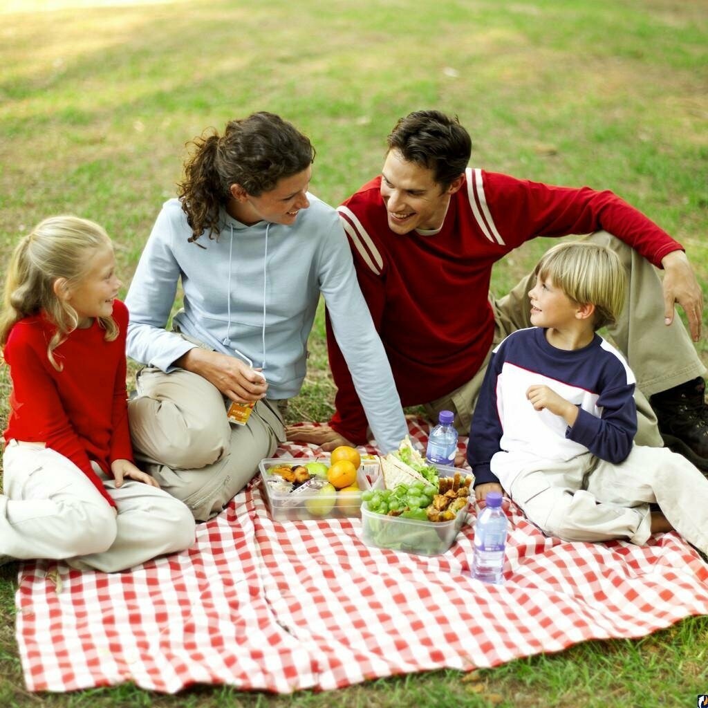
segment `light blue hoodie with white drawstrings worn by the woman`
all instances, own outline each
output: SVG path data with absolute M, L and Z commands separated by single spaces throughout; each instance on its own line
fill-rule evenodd
M 164 329 L 181 278 L 180 331 L 223 354 L 239 350 L 263 367 L 268 398 L 290 398 L 305 377 L 321 293 L 379 449 L 395 450 L 406 421 L 346 236 L 335 210 L 307 198 L 309 207 L 290 225 L 246 226 L 222 210 L 219 238 L 202 234 L 195 243 L 180 202 L 165 202 L 125 299 L 127 354 L 170 372 L 193 348 Z

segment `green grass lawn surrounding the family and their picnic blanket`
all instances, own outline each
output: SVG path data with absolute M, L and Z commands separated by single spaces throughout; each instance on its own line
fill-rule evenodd
M 207 126 L 263 109 L 292 120 L 317 149 L 312 191 L 336 204 L 377 173 L 397 118 L 440 108 L 471 133 L 474 166 L 615 190 L 686 246 L 705 289 L 707 17 L 705 0 L 6 0 L 0 268 L 33 224 L 73 212 L 108 229 L 130 282 L 185 142 Z M 513 285 L 547 245 L 511 254 L 493 287 Z M 331 412 L 323 334 L 319 316 L 292 420 Z M 3 371 L 3 427 L 8 391 Z M 16 569 L 0 569 L 1 706 L 691 706 L 708 692 L 700 617 L 639 641 L 336 693 L 30 695 L 13 636 Z

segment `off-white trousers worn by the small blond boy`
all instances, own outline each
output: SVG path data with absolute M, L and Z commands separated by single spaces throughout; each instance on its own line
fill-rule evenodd
M 708 479 L 667 448 L 635 445 L 620 464 L 588 452 L 568 462 L 525 459 L 519 469 L 510 497 L 549 535 L 566 541 L 626 539 L 641 545 L 651 534 L 649 504 L 658 503 L 675 530 L 708 553 Z

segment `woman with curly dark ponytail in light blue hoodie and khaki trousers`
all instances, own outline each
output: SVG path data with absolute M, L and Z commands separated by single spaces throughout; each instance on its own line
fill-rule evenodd
M 261 112 L 194 146 L 127 295 L 127 353 L 147 365 L 129 405 L 137 457 L 206 520 L 285 440 L 320 294 L 379 447 L 397 447 L 406 425 L 343 227 L 308 192 L 309 139 Z M 232 402 L 253 404 L 245 425 L 227 418 Z

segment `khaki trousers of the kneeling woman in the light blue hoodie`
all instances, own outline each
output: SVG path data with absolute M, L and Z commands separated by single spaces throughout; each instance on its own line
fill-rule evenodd
M 218 514 L 285 440 L 278 405 L 254 406 L 245 426 L 229 423 L 219 390 L 183 369 L 146 367 L 128 401 L 136 459 L 198 521 Z

